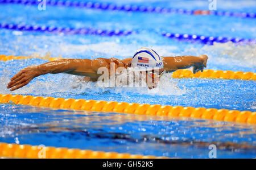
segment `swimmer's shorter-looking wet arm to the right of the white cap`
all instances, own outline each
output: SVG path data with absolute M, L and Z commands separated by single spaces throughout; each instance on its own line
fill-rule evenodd
M 167 72 L 174 72 L 177 69 L 185 69 L 193 67 L 193 73 L 202 71 L 207 67 L 207 55 L 201 56 L 177 56 L 163 57 L 164 69 Z

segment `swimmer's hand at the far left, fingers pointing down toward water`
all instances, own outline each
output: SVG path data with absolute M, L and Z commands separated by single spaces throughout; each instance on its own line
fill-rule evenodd
M 13 76 L 10 79 L 7 89 L 11 91 L 22 88 L 24 85 L 27 85 L 33 78 L 40 76 L 40 71 L 34 67 L 27 67 L 22 69 L 18 74 Z

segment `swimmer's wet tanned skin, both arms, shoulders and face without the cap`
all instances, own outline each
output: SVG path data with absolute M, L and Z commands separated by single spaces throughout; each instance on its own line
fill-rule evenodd
M 78 76 L 85 76 L 86 81 L 97 81 L 98 77 L 101 74 L 98 74 L 97 71 L 101 67 L 108 68 L 109 76 L 110 76 L 110 63 L 114 64 L 114 72 L 119 67 L 131 67 L 131 59 L 127 58 L 123 60 L 110 58 L 98 58 L 94 60 L 90 59 L 62 59 L 56 61 L 49 61 L 47 63 L 30 66 L 27 68 L 22 69 L 20 72 L 15 74 L 10 79 L 7 88 L 11 91 L 22 88 L 23 86 L 27 85 L 33 78 L 41 76 L 43 74 L 57 74 L 57 73 L 67 73 L 73 74 Z M 201 56 L 177 56 L 177 57 L 163 57 L 164 68 L 159 69 L 158 73 L 162 73 L 163 71 L 174 72 L 177 69 L 185 69 L 193 67 L 193 73 L 202 71 L 205 67 L 207 67 L 207 55 Z M 112 71 L 113 72 L 113 71 Z M 157 72 L 157 71 L 151 71 Z M 148 76 L 147 76 L 148 77 Z M 160 77 L 153 78 L 152 77 L 152 84 L 148 81 L 147 84 L 148 88 L 155 88 L 159 82 Z

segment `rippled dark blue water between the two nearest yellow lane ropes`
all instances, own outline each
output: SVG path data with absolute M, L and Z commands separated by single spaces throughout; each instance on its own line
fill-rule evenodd
M 255 126 L 146 115 L 0 105 L 1 142 L 184 158 L 254 158 Z M 246 149 L 241 149 L 242 147 Z

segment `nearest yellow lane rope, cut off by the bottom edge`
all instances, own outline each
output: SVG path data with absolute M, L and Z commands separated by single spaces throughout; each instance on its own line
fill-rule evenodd
M 46 158 L 46 159 L 155 159 L 168 158 L 144 155 L 119 154 L 117 152 L 102 152 L 68 148 L 31 146 L 28 144 L 0 143 L 0 157 L 8 158 Z

